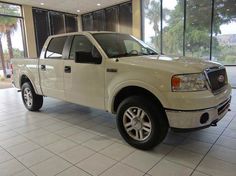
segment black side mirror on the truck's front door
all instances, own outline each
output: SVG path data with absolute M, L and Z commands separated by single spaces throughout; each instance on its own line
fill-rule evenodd
M 76 63 L 91 63 L 101 64 L 102 56 L 95 46 L 93 46 L 91 52 L 77 51 L 75 52 Z

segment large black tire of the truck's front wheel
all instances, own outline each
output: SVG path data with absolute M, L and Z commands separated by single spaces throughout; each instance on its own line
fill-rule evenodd
M 135 110 L 135 108 L 137 108 L 137 111 Z M 143 129 L 143 128 L 145 128 L 145 125 L 141 125 L 144 123 L 141 123 L 140 121 L 139 121 L 140 125 L 137 125 L 138 124 L 137 122 L 133 123 L 132 120 L 130 120 L 130 122 L 126 122 L 126 120 L 127 119 L 129 120 L 131 117 L 130 115 L 128 115 L 128 114 L 130 114 L 130 111 L 133 111 L 132 115 L 134 115 L 134 113 L 136 113 L 136 112 L 138 113 L 138 111 L 140 113 L 143 113 L 143 112 L 141 112 L 140 109 L 144 111 L 144 114 L 146 114 L 143 116 L 140 115 L 140 116 L 142 116 L 140 119 L 144 119 L 144 120 L 141 120 L 142 122 L 145 122 L 145 121 L 148 122 L 148 125 L 151 126 L 150 132 L 147 132 Z M 127 118 L 127 116 L 128 116 L 128 118 Z M 145 120 L 145 118 L 146 118 L 146 120 Z M 146 122 L 145 122 L 145 124 L 147 124 Z M 135 126 L 135 129 L 132 129 L 130 131 L 129 131 L 129 129 L 126 130 L 126 128 L 128 128 L 128 127 L 125 127 L 125 125 L 124 125 L 125 123 L 126 123 L 126 126 L 129 126 L 128 123 L 129 124 L 131 123 L 132 125 L 130 125 L 129 129 L 134 128 L 133 126 Z M 161 143 L 165 139 L 168 129 L 169 129 L 166 114 L 165 114 L 162 106 L 158 105 L 157 103 L 154 103 L 153 101 L 150 101 L 147 98 L 142 97 L 142 96 L 129 97 L 129 98 L 125 99 L 119 105 L 118 113 L 117 113 L 117 126 L 118 126 L 119 132 L 120 132 L 121 136 L 124 138 L 124 140 L 127 143 L 129 143 L 131 146 L 141 149 L 141 150 L 152 149 L 153 147 L 155 147 L 156 145 Z M 136 129 L 136 128 L 139 128 L 139 129 Z M 138 130 L 142 131 L 141 132 L 142 135 L 138 134 L 138 138 L 140 136 L 142 136 L 143 140 L 134 139 L 135 137 L 137 137 Z M 144 138 L 144 134 L 146 135 L 146 138 Z

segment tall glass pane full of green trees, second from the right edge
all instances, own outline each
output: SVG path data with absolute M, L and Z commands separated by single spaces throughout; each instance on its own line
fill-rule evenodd
M 211 0 L 187 0 L 185 55 L 209 60 Z

